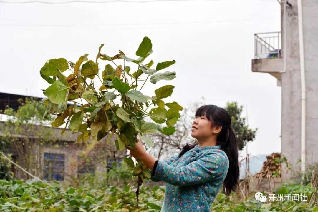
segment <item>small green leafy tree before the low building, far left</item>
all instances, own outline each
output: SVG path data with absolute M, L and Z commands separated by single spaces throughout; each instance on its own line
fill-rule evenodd
M 1 123 L 2 140 L 15 150 L 21 167 L 35 176 L 42 178 L 41 154 L 43 144 L 52 142 L 52 130 L 47 127 L 52 116 L 43 118 L 45 105 L 33 98 L 18 100 L 21 106 L 14 111 L 12 108 L 4 110 L 7 120 Z M 18 178 L 29 179 L 24 172 L 17 172 Z

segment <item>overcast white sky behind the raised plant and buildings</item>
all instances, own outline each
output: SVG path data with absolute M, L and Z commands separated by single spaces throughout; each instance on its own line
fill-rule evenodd
M 39 70 L 48 59 L 76 62 L 89 53 L 95 61 L 101 43 L 104 54 L 120 49 L 137 58 L 148 36 L 153 43 L 148 59 L 154 66 L 175 59 L 163 71 L 176 71 L 177 77 L 145 85 L 144 94 L 153 96 L 171 84 L 176 88 L 165 102 L 184 106 L 204 96 L 207 104 L 224 107 L 238 101 L 244 115 L 247 106 L 250 127 L 259 128 L 249 153 L 281 151 L 281 88 L 273 76 L 251 71 L 254 33 L 280 31 L 276 0 L 0 3 L 0 31 L 1 92 L 44 97 L 40 89 L 49 84 Z M 100 61 L 100 70 L 105 64 Z

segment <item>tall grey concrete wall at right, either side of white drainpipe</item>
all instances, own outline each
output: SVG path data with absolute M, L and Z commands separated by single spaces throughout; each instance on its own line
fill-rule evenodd
M 282 113 L 281 136 L 282 154 L 300 171 L 301 158 L 301 76 L 299 56 L 298 12 L 297 0 L 288 1 L 292 7 L 286 8 L 286 42 L 284 41 L 284 6 L 281 8 L 282 49 L 286 45 L 286 72 L 282 78 Z M 302 1 L 303 35 L 306 75 L 306 163 L 318 162 L 318 72 L 317 53 L 318 42 L 318 2 L 316 0 Z M 296 164 L 297 163 L 297 164 Z M 284 167 L 285 171 L 286 168 Z M 286 176 L 288 178 L 288 176 Z

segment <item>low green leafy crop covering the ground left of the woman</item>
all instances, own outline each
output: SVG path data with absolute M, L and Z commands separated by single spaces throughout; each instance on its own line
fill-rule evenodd
M 165 187 L 146 187 L 140 191 L 139 211 L 158 212 Z M 0 211 L 137 211 L 135 189 L 107 187 L 104 189 L 66 188 L 54 181 L 52 185 L 34 180 L 0 180 Z

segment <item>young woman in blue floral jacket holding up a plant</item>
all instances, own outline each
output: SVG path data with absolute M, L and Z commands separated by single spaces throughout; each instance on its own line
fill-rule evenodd
M 152 181 L 167 183 L 161 212 L 208 212 L 222 184 L 226 195 L 238 186 L 238 148 L 231 117 L 216 105 L 201 106 L 195 116 L 191 136 L 198 143 L 185 145 L 178 155 L 158 161 L 145 152 L 140 140 L 130 149 L 131 156 L 152 170 Z

